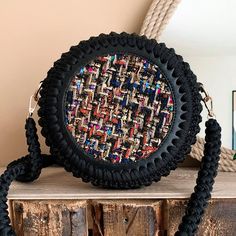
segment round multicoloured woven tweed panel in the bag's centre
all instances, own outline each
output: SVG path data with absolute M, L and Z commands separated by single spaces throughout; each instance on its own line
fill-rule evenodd
M 168 134 L 173 97 L 157 65 L 135 55 L 97 57 L 71 80 L 67 129 L 91 156 L 112 163 L 147 158 Z

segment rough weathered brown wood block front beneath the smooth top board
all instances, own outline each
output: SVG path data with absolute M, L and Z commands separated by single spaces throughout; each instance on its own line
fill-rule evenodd
M 12 200 L 18 236 L 172 236 L 187 200 Z M 236 199 L 212 199 L 197 236 L 234 236 Z

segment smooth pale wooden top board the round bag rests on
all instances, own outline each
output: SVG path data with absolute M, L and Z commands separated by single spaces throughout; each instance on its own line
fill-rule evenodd
M 3 168 L 0 172 L 3 172 Z M 63 168 L 50 167 L 42 171 L 33 183 L 14 182 L 9 199 L 183 199 L 195 186 L 197 169 L 177 168 L 158 183 L 135 190 L 108 190 L 83 183 Z M 219 172 L 213 198 L 236 197 L 236 173 Z

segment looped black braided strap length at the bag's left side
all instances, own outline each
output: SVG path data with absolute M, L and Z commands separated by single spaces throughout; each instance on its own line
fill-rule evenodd
M 11 162 L 0 177 L 0 236 L 15 236 L 10 226 L 7 195 L 13 180 L 31 182 L 36 180 L 42 168 L 56 163 L 53 156 L 41 155 L 36 124 L 33 118 L 26 120 L 26 139 L 29 154 Z

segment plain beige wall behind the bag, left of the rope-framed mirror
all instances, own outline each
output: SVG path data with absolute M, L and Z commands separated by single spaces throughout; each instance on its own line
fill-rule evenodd
M 61 53 L 101 32 L 139 32 L 150 3 L 151 0 L 1 1 L 0 166 L 26 154 L 24 122 L 28 99 Z M 45 145 L 42 149 L 47 151 Z

